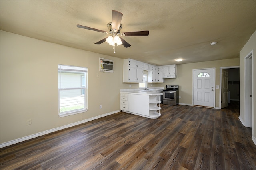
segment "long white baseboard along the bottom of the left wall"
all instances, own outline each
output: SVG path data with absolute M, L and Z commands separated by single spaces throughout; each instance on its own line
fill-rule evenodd
M 95 120 L 95 119 L 99 119 L 101 117 L 105 117 L 105 116 L 108 116 L 108 115 L 112 115 L 114 113 L 118 113 L 120 112 L 120 110 L 117 110 L 117 111 L 112 111 L 112 112 L 109 112 L 109 113 L 105 113 L 103 115 L 99 115 L 99 116 L 96 116 L 96 117 L 91 117 L 89 119 L 84 119 L 82 121 L 78 121 L 78 122 L 74 122 L 74 123 L 70 123 L 68 125 L 64 125 L 62 127 L 57 127 L 57 128 L 53 128 L 53 129 L 50 129 L 50 130 L 46 130 L 44 132 L 39 132 L 39 133 L 36 133 L 36 134 L 32 134 L 32 135 L 29 135 L 29 136 L 25 136 L 25 137 L 22 137 L 22 138 L 18 138 L 18 139 L 15 139 L 15 140 L 11 140 L 9 142 L 4 142 L 2 144 L 0 144 L 0 148 L 4 148 L 6 146 L 10 146 L 12 144 L 16 144 L 16 143 L 19 143 L 19 142 L 23 142 L 25 140 L 29 140 L 29 139 L 32 139 L 32 138 L 36 138 L 36 137 L 39 137 L 39 136 L 43 136 L 45 134 L 49 134 L 49 133 L 52 133 L 52 132 L 56 132 L 58 130 L 62 130 L 62 129 L 65 129 L 65 128 L 69 128 L 69 127 L 73 127 L 73 126 L 76 126 L 76 125 L 79 125 L 79 124 L 82 124 L 82 123 L 86 123 L 86 122 L 89 122 L 89 121 L 92 121 L 92 120 Z

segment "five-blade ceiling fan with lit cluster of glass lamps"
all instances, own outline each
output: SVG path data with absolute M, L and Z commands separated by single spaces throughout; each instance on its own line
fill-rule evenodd
M 98 30 L 96 28 L 82 26 L 79 24 L 77 25 L 77 27 L 84 28 L 87 30 L 92 30 L 92 31 L 98 31 L 98 32 L 106 33 L 106 34 L 111 34 L 111 36 L 108 36 L 108 37 L 96 42 L 95 44 L 101 44 L 106 41 L 109 45 L 112 45 L 114 48 L 115 48 L 115 44 L 116 45 L 123 44 L 124 47 L 126 47 L 126 48 L 131 46 L 128 42 L 126 42 L 123 38 L 121 38 L 119 36 L 148 36 L 149 31 L 121 32 L 120 33 L 120 30 L 122 29 L 122 24 L 121 24 L 122 16 L 123 16 L 123 14 L 121 12 L 112 10 L 112 22 L 109 22 L 107 24 L 108 32 L 103 31 L 103 30 Z

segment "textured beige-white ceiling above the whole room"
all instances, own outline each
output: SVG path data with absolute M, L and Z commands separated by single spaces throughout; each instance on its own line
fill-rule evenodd
M 256 30 L 256 0 L 1 0 L 0 8 L 1 30 L 154 65 L 238 58 Z M 123 14 L 121 32 L 149 30 L 149 36 L 122 37 L 132 46 L 114 54 L 108 43 L 94 44 L 107 34 L 76 27 L 108 31 L 112 10 Z

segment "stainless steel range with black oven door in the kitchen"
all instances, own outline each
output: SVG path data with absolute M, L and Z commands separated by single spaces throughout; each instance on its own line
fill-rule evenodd
M 163 93 L 163 104 L 178 105 L 179 104 L 179 86 L 166 85 L 166 90 Z

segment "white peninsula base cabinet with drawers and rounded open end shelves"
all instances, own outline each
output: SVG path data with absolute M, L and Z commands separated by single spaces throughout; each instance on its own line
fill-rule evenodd
M 161 116 L 161 95 L 120 94 L 120 110 L 152 119 Z

